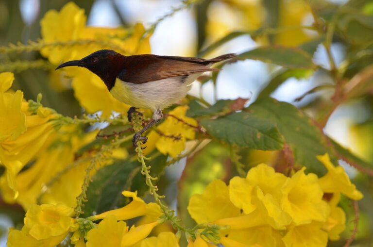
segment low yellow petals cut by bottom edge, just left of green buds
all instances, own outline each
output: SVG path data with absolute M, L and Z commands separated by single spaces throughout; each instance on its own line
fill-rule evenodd
M 164 231 L 158 237 L 146 238 L 133 247 L 179 247 L 179 239 L 174 233 Z

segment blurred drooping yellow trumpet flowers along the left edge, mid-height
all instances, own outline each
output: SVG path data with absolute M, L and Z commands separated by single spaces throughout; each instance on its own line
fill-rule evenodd
M 27 102 L 22 91 L 9 90 L 13 80 L 13 73 L 0 74 L 0 165 L 6 168 L 0 178 L 2 198 L 27 210 L 36 203 L 45 184 L 75 162 L 77 165 L 62 174 L 40 198 L 42 203 L 75 207 L 89 165 L 86 155 L 77 160 L 75 153 L 92 142 L 97 131 L 84 133 L 76 124 L 63 123 L 62 115 L 41 105 L 41 97 L 38 102 Z M 111 159 L 101 165 L 126 155 L 125 149 L 113 149 Z

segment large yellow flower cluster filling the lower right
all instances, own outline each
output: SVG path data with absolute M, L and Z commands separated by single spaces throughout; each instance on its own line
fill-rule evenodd
M 199 224 L 229 226 L 220 238 L 226 247 L 325 247 L 345 229 L 340 195 L 354 200 L 363 196 L 328 154 L 318 159 L 328 170 L 321 178 L 305 174 L 305 167 L 289 178 L 261 164 L 246 178 L 232 178 L 228 186 L 212 181 L 202 195 L 192 196 L 189 214 Z

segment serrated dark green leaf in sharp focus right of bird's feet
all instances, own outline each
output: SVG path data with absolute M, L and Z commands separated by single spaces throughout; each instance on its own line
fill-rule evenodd
M 247 112 L 202 119 L 200 123 L 210 135 L 231 145 L 259 150 L 283 148 L 283 137 L 275 124 Z

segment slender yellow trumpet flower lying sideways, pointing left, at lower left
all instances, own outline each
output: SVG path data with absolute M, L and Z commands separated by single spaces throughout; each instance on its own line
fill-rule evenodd
M 123 191 L 122 194 L 125 197 L 132 197 L 133 201 L 122 208 L 106 211 L 102 214 L 93 215 L 88 217 L 87 219 L 98 220 L 104 219 L 108 215 L 115 215 L 118 220 L 126 220 L 136 218 L 138 216 L 147 215 L 152 216 L 152 218 L 155 220 L 162 215 L 162 211 L 156 203 L 145 203 L 141 198 L 137 197 L 137 191 L 135 193 L 130 191 Z

